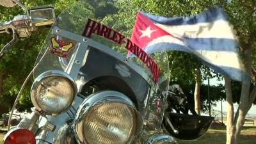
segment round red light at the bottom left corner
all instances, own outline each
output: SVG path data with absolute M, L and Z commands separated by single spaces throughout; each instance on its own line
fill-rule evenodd
M 4 144 L 36 144 L 35 134 L 28 129 L 15 129 L 6 134 Z

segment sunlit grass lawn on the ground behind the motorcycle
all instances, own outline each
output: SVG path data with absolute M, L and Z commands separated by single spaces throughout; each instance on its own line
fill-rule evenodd
M 3 144 L 4 134 L 0 133 L 0 144 Z M 179 141 L 179 144 L 223 144 L 226 141 L 225 127 L 214 127 L 196 141 Z M 253 144 L 256 141 L 256 127 L 244 127 L 239 144 Z

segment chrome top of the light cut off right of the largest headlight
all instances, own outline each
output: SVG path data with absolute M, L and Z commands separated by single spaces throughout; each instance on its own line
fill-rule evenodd
M 148 139 L 148 141 L 145 144 L 158 144 L 163 142 L 167 142 L 168 144 L 177 143 L 177 141 L 172 136 L 169 136 L 167 134 L 154 134 Z

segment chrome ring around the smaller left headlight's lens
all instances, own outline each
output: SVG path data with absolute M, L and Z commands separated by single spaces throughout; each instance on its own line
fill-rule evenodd
M 40 83 L 40 81 L 42 81 L 46 77 L 51 77 L 51 76 L 59 76 L 59 77 L 67 78 L 72 83 L 73 88 L 74 88 L 74 95 L 73 95 L 72 103 L 70 104 L 70 106 L 68 106 L 66 109 L 64 109 L 60 113 L 49 113 L 47 111 L 44 111 L 44 109 L 40 108 L 40 104 L 38 104 L 38 102 L 36 101 L 36 88 L 37 88 L 38 84 Z M 76 87 L 76 83 L 75 83 L 74 79 L 72 79 L 72 77 L 70 77 L 67 73 L 62 72 L 60 70 L 49 70 L 47 72 L 40 74 L 38 77 L 36 77 L 34 83 L 31 86 L 31 101 L 32 101 L 33 105 L 35 106 L 36 110 L 39 111 L 40 113 L 44 113 L 45 115 L 59 115 L 61 113 L 66 112 L 72 106 L 72 104 L 74 104 L 76 93 L 77 93 L 77 87 Z

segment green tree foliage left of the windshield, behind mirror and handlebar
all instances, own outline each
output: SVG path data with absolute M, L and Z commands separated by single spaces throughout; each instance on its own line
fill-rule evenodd
M 57 14 L 65 10 L 73 2 L 68 0 L 22 1 L 29 8 L 44 4 L 54 4 Z M 15 15 L 22 14 L 24 12 L 19 6 L 13 8 L 0 6 L 1 22 L 12 20 Z M 13 45 L 12 50 L 0 61 L 0 72 L 4 74 L 4 79 L 0 79 L 0 81 L 3 81 L 3 86 L 0 86 L 3 89 L 3 93 L 0 93 L 1 105 L 11 108 L 17 93 L 19 93 L 20 86 L 34 66 L 36 56 L 42 47 L 40 43 L 44 40 L 48 31 L 49 28 L 39 28 L 29 38 L 21 38 L 17 44 Z M 0 34 L 0 47 L 3 47 L 11 39 L 11 35 Z M 32 81 L 31 79 L 30 84 L 27 85 L 26 90 L 22 93 L 20 103 L 17 106 L 19 111 L 29 111 L 32 106 L 30 100 L 30 86 Z

